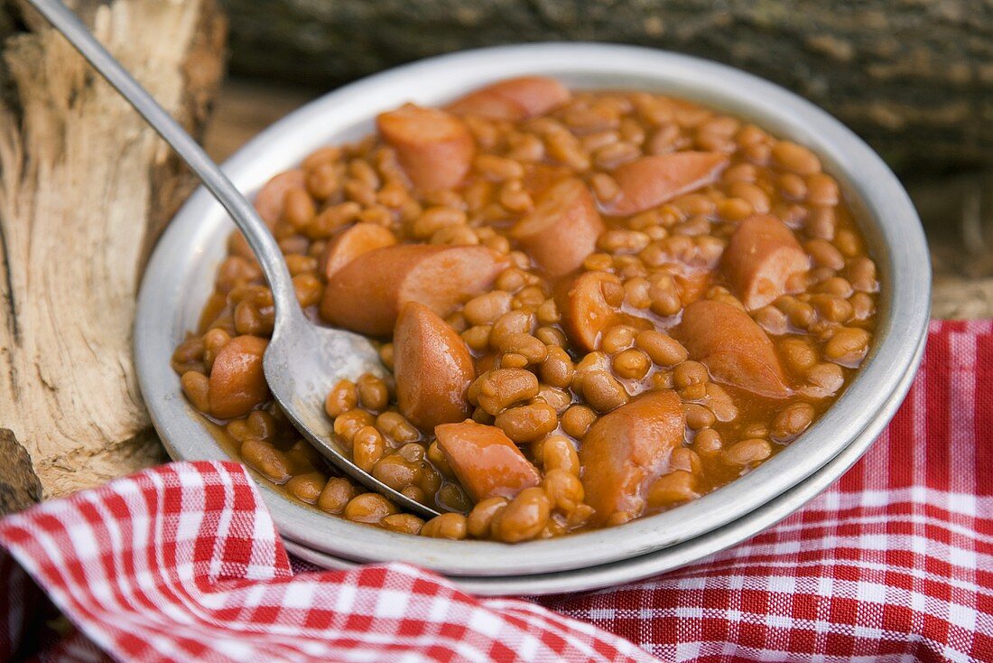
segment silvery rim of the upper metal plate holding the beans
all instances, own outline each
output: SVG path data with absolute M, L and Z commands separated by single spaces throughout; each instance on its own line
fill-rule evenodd
M 607 530 L 508 546 L 357 525 L 304 507 L 260 482 L 277 527 L 308 548 L 459 576 L 543 574 L 642 556 L 730 523 L 809 477 L 879 416 L 905 373 L 916 368 L 928 318 L 930 266 L 907 193 L 882 159 L 826 112 L 779 85 L 724 65 L 604 44 L 505 46 L 441 56 L 352 83 L 303 106 L 239 150 L 224 170 L 252 192 L 312 149 L 368 132 L 377 112 L 408 100 L 441 103 L 482 84 L 528 74 L 554 76 L 576 87 L 664 91 L 748 118 L 812 148 L 841 183 L 879 265 L 883 285 L 874 347 L 861 374 L 804 435 L 754 471 L 677 509 Z M 213 198 L 198 190 L 160 240 L 139 293 L 139 382 L 153 423 L 177 459 L 230 458 L 191 415 L 169 365 L 209 294 L 229 224 Z

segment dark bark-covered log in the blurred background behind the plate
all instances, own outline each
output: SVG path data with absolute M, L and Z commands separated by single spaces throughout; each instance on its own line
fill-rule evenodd
M 460 49 L 547 40 L 699 55 L 783 84 L 896 165 L 993 164 L 983 0 L 225 0 L 234 73 L 332 85 Z

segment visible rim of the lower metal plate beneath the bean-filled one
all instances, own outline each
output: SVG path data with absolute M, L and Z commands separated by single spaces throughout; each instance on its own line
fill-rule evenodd
M 918 347 L 919 358 L 923 355 L 923 349 L 922 339 L 922 343 Z M 806 504 L 827 489 L 838 477 L 858 462 L 859 458 L 872 446 L 877 435 L 882 432 L 889 417 L 895 414 L 904 402 L 904 396 L 914 382 L 915 373 L 913 370 L 907 372 L 897 393 L 887 402 L 885 410 L 887 416 L 874 420 L 851 444 L 828 461 L 826 465 L 768 504 L 762 505 L 755 511 L 723 527 L 647 555 L 597 567 L 532 576 L 449 576 L 448 578 L 466 591 L 485 596 L 541 595 L 584 591 L 657 576 L 693 564 L 705 556 L 731 548 L 767 528 L 774 527 L 796 511 L 799 506 Z M 921 397 L 923 397 L 922 392 Z M 311 550 L 289 539 L 284 538 L 284 544 L 293 555 L 320 567 L 350 570 L 358 566 L 358 563 L 340 560 L 326 553 Z

